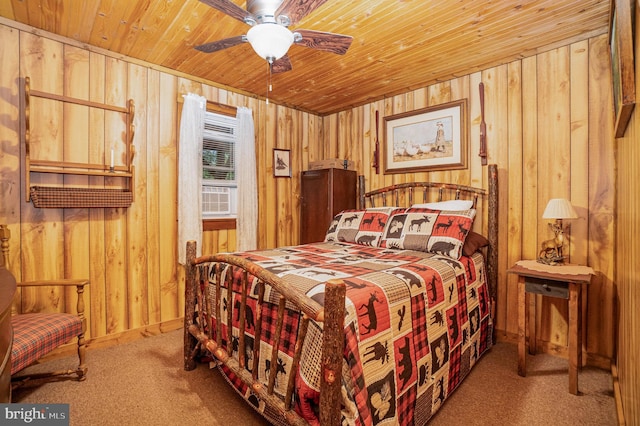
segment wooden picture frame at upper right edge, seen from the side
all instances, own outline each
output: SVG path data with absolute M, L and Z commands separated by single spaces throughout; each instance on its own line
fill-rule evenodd
M 636 83 L 633 58 L 633 16 L 630 0 L 611 0 L 609 52 L 613 85 L 614 134 L 621 138 L 635 106 Z

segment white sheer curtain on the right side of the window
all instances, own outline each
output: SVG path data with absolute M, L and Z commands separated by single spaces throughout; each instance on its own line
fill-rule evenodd
M 236 139 L 236 180 L 238 182 L 238 219 L 236 249 L 258 247 L 258 183 L 256 177 L 256 142 L 253 114 L 250 108 L 238 107 Z

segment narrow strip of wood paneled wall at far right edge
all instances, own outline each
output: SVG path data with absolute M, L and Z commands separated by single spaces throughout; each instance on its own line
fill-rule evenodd
M 640 22 L 640 8 L 635 8 Z M 636 25 L 635 57 L 640 56 L 640 31 Z M 636 87 L 640 66 L 636 64 Z M 637 89 L 636 89 L 637 90 Z M 637 95 L 636 95 L 637 99 Z M 616 152 L 616 365 L 620 402 L 628 425 L 640 424 L 640 110 L 636 105 L 623 138 L 615 141 Z

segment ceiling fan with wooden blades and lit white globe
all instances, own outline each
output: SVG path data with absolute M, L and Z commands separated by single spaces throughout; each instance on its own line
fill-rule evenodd
M 292 44 L 311 49 L 344 55 L 351 46 L 351 36 L 322 31 L 289 30 L 302 18 L 322 6 L 327 0 L 247 0 L 247 10 L 230 0 L 200 0 L 227 15 L 251 26 L 246 35 L 226 38 L 195 48 L 211 53 L 222 49 L 250 43 L 253 50 L 269 62 L 271 72 L 291 70 L 287 51 Z

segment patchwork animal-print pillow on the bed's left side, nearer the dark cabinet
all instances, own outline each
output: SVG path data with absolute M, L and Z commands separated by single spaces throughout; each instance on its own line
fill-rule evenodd
M 333 218 L 324 240 L 377 246 L 394 210 L 396 207 L 341 211 Z

